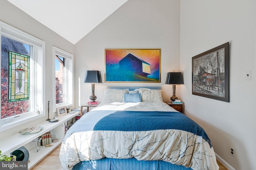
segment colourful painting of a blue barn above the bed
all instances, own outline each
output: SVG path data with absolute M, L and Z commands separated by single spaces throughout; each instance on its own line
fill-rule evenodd
M 105 49 L 105 82 L 160 82 L 160 49 Z

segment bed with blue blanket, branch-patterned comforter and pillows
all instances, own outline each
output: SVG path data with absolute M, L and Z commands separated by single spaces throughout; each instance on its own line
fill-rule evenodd
M 67 131 L 59 157 L 64 170 L 219 169 L 204 129 L 165 104 L 159 87 L 107 88 Z

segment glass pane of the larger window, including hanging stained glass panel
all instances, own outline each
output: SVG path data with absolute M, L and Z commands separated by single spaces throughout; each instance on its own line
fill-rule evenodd
M 1 36 L 1 55 L 1 119 L 3 119 L 30 111 L 30 46 Z

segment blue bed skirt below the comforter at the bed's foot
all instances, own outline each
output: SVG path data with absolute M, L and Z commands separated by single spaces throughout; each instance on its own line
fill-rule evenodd
M 192 170 L 184 166 L 171 164 L 162 160 L 136 160 L 103 158 L 83 161 L 76 164 L 72 170 Z

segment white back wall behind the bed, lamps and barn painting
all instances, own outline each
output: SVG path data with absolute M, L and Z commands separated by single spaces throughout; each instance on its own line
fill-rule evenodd
M 84 83 L 86 70 L 100 70 L 102 84 L 95 84 L 102 101 L 106 86 L 162 86 L 170 101 L 172 85 L 167 72 L 180 69 L 180 2 L 177 0 L 129 0 L 75 45 L 76 106 L 89 101 L 91 84 Z M 160 83 L 105 83 L 105 49 L 161 49 Z M 179 87 L 176 96 L 179 97 Z

